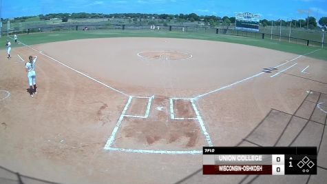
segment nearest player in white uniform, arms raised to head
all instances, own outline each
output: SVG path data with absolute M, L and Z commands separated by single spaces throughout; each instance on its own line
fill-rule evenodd
M 25 70 L 26 72 L 28 72 L 28 83 L 30 85 L 30 95 L 33 98 L 33 93 L 36 94 L 36 73 L 35 73 L 35 63 L 36 63 L 36 59 L 37 56 L 30 56 L 28 57 L 28 59 L 30 60 L 30 62 L 27 62 L 25 64 Z M 32 85 L 34 85 L 34 90 L 32 88 Z

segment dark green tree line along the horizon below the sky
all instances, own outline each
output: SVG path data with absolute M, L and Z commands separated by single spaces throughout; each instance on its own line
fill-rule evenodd
M 177 20 L 177 21 L 203 21 L 204 25 L 231 25 L 235 23 L 235 17 L 218 17 L 218 16 L 209 16 L 209 15 L 198 15 L 196 13 L 191 14 L 145 14 L 145 13 L 114 13 L 114 14 L 103 14 L 103 13 L 87 13 L 87 12 L 78 12 L 78 13 L 51 13 L 51 14 L 39 14 L 39 19 L 49 20 L 49 19 L 62 19 L 63 22 L 67 22 L 68 19 L 94 19 L 94 18 L 120 18 L 120 19 L 161 19 L 161 20 Z M 12 21 L 23 22 L 26 19 L 32 17 L 17 17 Z M 4 19 L 6 21 L 6 19 Z M 308 17 L 306 19 L 290 20 L 285 21 L 282 19 L 279 20 L 260 20 L 262 26 L 289 26 L 293 28 L 317 28 L 317 21 L 315 17 Z M 327 27 L 327 17 L 321 17 L 318 21 L 325 29 Z

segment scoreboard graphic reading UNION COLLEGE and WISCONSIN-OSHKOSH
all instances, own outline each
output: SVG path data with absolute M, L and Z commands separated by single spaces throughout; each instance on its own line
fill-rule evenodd
M 317 174 L 317 147 L 203 147 L 203 174 Z

